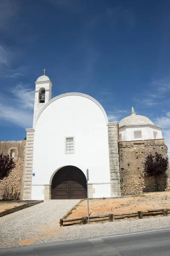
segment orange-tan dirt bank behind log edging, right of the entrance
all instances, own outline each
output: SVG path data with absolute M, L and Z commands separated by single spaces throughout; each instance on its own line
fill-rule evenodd
M 89 214 L 131 212 L 145 209 L 170 208 L 170 191 L 144 193 L 135 197 L 90 199 Z M 80 201 L 68 218 L 87 216 L 87 200 Z

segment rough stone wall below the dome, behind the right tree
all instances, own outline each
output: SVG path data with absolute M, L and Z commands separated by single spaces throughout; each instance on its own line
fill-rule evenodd
M 167 157 L 164 139 L 119 142 L 120 187 L 122 195 L 135 195 L 156 191 L 154 177 L 144 175 L 144 162 L 147 154 L 158 152 Z M 170 169 L 159 176 L 159 191 L 170 190 Z

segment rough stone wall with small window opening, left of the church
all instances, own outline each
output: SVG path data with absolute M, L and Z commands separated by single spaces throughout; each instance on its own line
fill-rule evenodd
M 26 140 L 0 141 L 0 154 L 12 155 L 16 167 L 8 177 L 0 180 L 0 199 L 22 199 L 23 169 Z

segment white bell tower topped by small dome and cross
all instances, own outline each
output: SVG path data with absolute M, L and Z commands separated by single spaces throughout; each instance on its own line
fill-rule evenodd
M 41 108 L 51 100 L 51 87 L 52 83 L 48 76 L 45 76 L 45 69 L 43 70 L 44 75 L 40 76 L 35 82 L 35 100 L 34 100 L 34 119 L 33 128 L 35 125 L 35 120 Z

